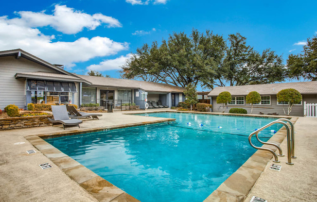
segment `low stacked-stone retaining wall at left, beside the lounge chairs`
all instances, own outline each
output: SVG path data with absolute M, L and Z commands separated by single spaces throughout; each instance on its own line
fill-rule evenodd
M 52 118 L 52 115 L 0 118 L 0 130 L 52 125 L 47 118 Z

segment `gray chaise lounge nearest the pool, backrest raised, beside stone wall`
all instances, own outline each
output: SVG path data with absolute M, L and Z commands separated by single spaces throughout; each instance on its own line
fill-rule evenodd
M 79 124 L 83 122 L 76 118 L 70 119 L 65 105 L 52 105 L 52 112 L 54 119 L 48 118 L 49 121 L 53 123 L 53 126 L 56 124 L 63 124 L 64 130 L 65 126 L 78 126 L 78 128 L 80 128 Z

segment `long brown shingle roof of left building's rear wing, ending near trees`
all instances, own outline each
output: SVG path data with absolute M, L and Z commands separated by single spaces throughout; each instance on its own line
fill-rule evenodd
M 128 79 L 115 79 L 115 78 L 106 78 L 100 76 L 88 76 L 88 75 L 76 75 L 82 79 L 91 83 L 94 86 L 108 86 L 108 87 L 119 87 L 119 88 L 140 88 L 147 92 L 176 92 L 182 93 L 185 88 L 171 85 L 171 84 L 162 84 L 155 82 L 144 82 L 137 80 L 128 80 Z

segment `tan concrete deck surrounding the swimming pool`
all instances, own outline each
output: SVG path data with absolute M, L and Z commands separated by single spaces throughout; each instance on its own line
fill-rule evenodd
M 148 110 L 148 112 L 153 111 L 158 112 L 159 110 Z M 161 111 L 167 110 L 161 109 Z M 144 111 L 142 112 L 144 113 Z M 66 128 L 66 130 L 63 130 L 62 126 L 48 126 L 0 131 L 0 199 L 4 202 L 98 201 L 96 197 L 92 197 L 91 192 L 90 194 L 88 193 L 89 190 L 83 189 L 83 185 L 79 186 L 74 179 L 70 179 L 65 174 L 65 171 L 62 171 L 60 167 L 63 164 L 61 161 L 62 158 L 65 158 L 64 156 L 59 157 L 60 165 L 58 167 L 47 156 L 43 155 L 42 152 L 35 149 L 27 139 L 32 139 L 32 135 L 63 135 L 66 133 L 72 133 L 73 131 L 85 132 L 91 130 L 92 128 L 103 129 L 104 127 L 111 126 L 126 127 L 133 124 L 146 124 L 151 121 L 158 122 L 168 120 L 164 118 L 143 116 L 133 116 L 133 118 L 131 118 L 131 115 L 125 115 L 126 113 L 138 113 L 138 111 L 103 113 L 103 117 L 100 120 L 84 119 L 84 123 L 81 124 L 81 128 L 79 130 L 76 127 Z M 253 187 L 249 196 L 246 199 L 240 198 L 239 201 L 245 200 L 248 202 L 253 195 L 264 198 L 270 202 L 289 201 L 288 199 L 292 199 L 291 201 L 317 200 L 317 177 L 315 177 L 314 173 L 317 167 L 317 150 L 315 146 L 317 143 L 317 118 L 299 118 L 298 122 L 299 123 L 295 124 L 295 131 L 297 132 L 295 135 L 295 154 L 298 158 L 293 159 L 294 165 L 286 165 L 284 162 L 287 157 L 285 156 L 279 158 L 281 163 L 278 164 L 282 165 L 281 171 L 273 172 L 273 170 L 269 170 L 267 166 L 264 167 L 264 172 L 259 174 L 260 178 Z M 15 143 L 19 142 L 25 143 L 15 145 Z M 284 139 L 281 145 L 284 154 L 286 153 L 285 144 L 286 141 Z M 26 151 L 32 149 L 34 149 L 36 153 L 26 153 Z M 42 149 L 47 151 L 50 148 Z M 42 163 L 50 163 L 53 168 L 42 170 L 39 167 L 39 164 Z M 271 162 L 269 162 L 268 165 L 270 164 Z M 81 165 L 76 165 L 76 163 L 73 162 L 73 166 L 80 167 Z M 299 168 L 303 170 L 300 170 Z M 71 172 L 71 170 L 69 170 L 69 172 Z M 290 181 L 289 177 L 294 175 L 296 177 Z M 90 177 L 95 176 L 91 174 Z M 283 179 L 283 177 L 286 177 L 286 179 Z M 95 177 L 95 179 L 97 179 L 97 177 Z M 275 182 L 274 179 L 278 179 L 278 182 Z M 85 179 L 80 180 L 82 183 L 85 183 Z M 302 188 L 299 187 L 297 180 L 299 180 L 300 187 Z M 101 180 L 98 182 L 101 182 Z M 281 184 L 280 186 L 278 185 L 279 183 Z M 288 185 L 288 183 L 290 185 Z M 86 186 L 89 185 L 87 184 Z M 271 187 L 273 191 L 270 191 L 268 187 Z M 282 190 L 280 187 L 282 187 Z M 134 201 L 134 198 L 130 199 L 126 195 L 123 195 L 120 191 L 117 194 L 121 197 L 115 197 L 111 199 L 111 201 Z M 278 198 L 274 196 L 278 196 Z M 108 201 L 110 201 L 110 199 L 108 199 Z M 227 198 L 227 201 L 231 201 L 230 198 Z

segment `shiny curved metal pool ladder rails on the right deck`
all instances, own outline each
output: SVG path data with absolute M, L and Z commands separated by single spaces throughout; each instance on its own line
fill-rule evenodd
M 285 122 L 283 122 L 283 121 L 286 121 L 286 122 L 288 122 L 288 123 L 290 124 L 291 130 L 290 130 L 289 126 L 287 125 L 287 123 L 285 123 Z M 248 139 L 249 139 L 249 143 L 250 143 L 250 145 L 251 145 L 252 147 L 254 147 L 255 149 L 271 152 L 271 153 L 274 155 L 274 160 L 273 160 L 273 162 L 279 163 L 280 161 L 278 160 L 278 155 L 279 155 L 279 156 L 284 156 L 284 155 L 282 154 L 282 149 L 281 149 L 281 147 L 280 147 L 279 145 L 274 144 L 274 143 L 271 143 L 271 142 L 263 142 L 263 141 L 261 141 L 261 140 L 259 139 L 259 137 L 258 137 L 258 133 L 259 133 L 259 132 L 263 131 L 265 128 L 267 128 L 267 127 L 269 127 L 269 126 L 271 126 L 271 125 L 274 125 L 274 124 L 276 124 L 276 123 L 281 123 L 281 124 L 284 125 L 285 128 L 286 128 L 286 135 L 287 135 L 287 163 L 286 163 L 286 164 L 288 164 L 288 165 L 294 165 L 294 164 L 292 163 L 292 158 L 296 158 L 296 156 L 294 155 L 294 154 L 295 154 L 295 152 L 294 152 L 294 124 L 292 123 L 292 121 L 290 121 L 290 120 L 287 119 L 287 118 L 279 118 L 278 120 L 272 121 L 272 122 L 270 122 L 269 124 L 263 126 L 262 128 L 260 128 L 260 129 L 258 129 L 258 130 L 256 130 L 256 131 L 254 131 L 253 133 L 251 133 L 251 134 L 249 135 L 249 138 L 248 138 Z M 291 133 L 290 133 L 290 132 L 291 132 Z M 257 146 L 255 146 L 255 145 L 253 145 L 252 142 L 251 142 L 251 137 L 252 137 L 254 134 L 255 134 L 255 136 L 256 136 L 256 138 L 258 139 L 259 142 L 261 142 L 262 144 L 265 144 L 265 145 L 272 145 L 272 146 L 277 147 L 280 153 L 279 153 L 279 154 L 276 154 L 276 153 L 275 153 L 273 150 L 271 150 L 271 149 L 262 148 L 262 147 L 257 147 Z

